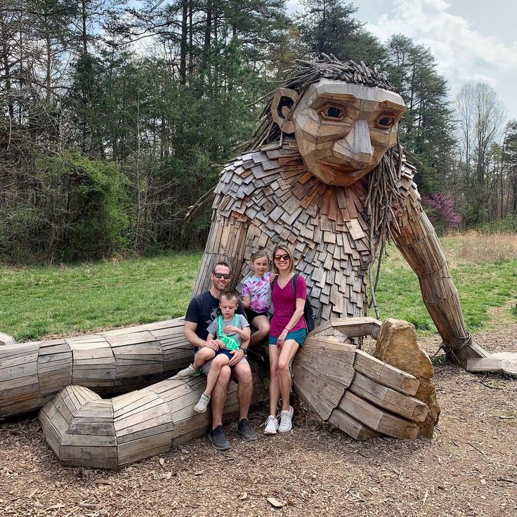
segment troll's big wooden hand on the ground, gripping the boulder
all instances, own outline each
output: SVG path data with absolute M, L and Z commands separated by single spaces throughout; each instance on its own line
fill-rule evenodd
M 414 397 L 417 378 L 345 342 L 377 337 L 380 328 L 373 318 L 346 318 L 315 329 L 294 358 L 294 387 L 322 420 L 356 440 L 414 440 L 429 411 Z

